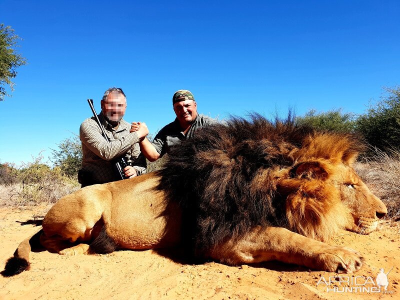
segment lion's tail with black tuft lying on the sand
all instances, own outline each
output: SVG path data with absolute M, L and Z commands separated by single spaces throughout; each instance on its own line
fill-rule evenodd
M 9 277 L 29 269 L 30 245 L 32 244 L 32 242 L 38 242 L 41 232 L 42 229 L 40 228 L 40 230 L 38 230 L 32 236 L 25 238 L 18 245 L 14 252 L 14 256 L 8 258 L 5 262 L 4 270 L 1 271 L 1 275 L 3 275 L 4 277 Z

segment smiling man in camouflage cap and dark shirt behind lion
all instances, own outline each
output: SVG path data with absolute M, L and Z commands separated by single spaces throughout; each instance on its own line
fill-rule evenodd
M 181 140 L 191 138 L 197 128 L 206 127 L 216 121 L 209 116 L 197 113 L 197 103 L 187 89 L 179 89 L 172 96 L 173 111 L 176 118 L 164 126 L 150 142 L 144 138 L 139 142 L 140 150 L 149 161 L 157 160 Z M 144 123 L 132 123 L 131 132 Z M 145 124 L 144 124 L 145 126 Z

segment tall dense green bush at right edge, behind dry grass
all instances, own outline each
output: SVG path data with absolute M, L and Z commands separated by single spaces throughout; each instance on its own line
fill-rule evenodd
M 385 87 L 385 94 L 356 120 L 365 140 L 380 149 L 400 147 L 400 86 Z

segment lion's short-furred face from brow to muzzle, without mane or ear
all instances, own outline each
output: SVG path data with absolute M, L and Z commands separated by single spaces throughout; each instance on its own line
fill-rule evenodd
M 387 213 L 383 202 L 362 182 L 350 166 L 339 164 L 331 180 L 348 208 L 345 229 L 360 234 L 374 231 L 378 221 Z

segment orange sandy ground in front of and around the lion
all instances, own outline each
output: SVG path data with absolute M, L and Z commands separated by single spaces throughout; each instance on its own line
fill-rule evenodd
M 20 221 L 42 215 L 48 208 L 0 208 L 1 269 L 18 243 L 37 230 Z M 380 268 L 385 272 L 392 268 L 387 275 L 387 293 L 335 292 L 335 286 L 348 285 L 335 282 L 327 286 L 321 276 L 328 283 L 329 276 L 339 279 L 337 274 L 279 262 L 193 265 L 179 261 L 176 255 L 152 250 L 76 256 L 41 251 L 31 252 L 30 270 L 0 277 L 0 299 L 400 299 L 399 239 L 400 224 L 383 222 L 379 231 L 369 235 L 343 231 L 332 242 L 364 255 L 365 263 L 357 273 L 341 277 L 355 280 L 358 285 L 352 286 L 372 287 L 371 280 Z

